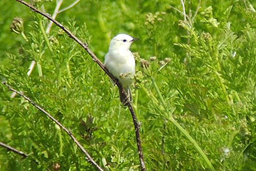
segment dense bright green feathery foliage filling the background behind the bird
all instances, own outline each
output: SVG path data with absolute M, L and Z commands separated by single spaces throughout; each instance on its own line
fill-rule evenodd
M 1 80 L 67 127 L 104 170 L 140 170 L 132 117 L 117 87 L 66 33 L 53 25 L 44 34 L 44 17 L 4 3 Z M 48 13 L 56 5 L 34 5 L 42 4 Z M 116 34 L 141 38 L 131 47 L 138 52 L 133 97 L 147 170 L 213 170 L 207 161 L 215 170 L 256 170 L 256 2 L 200 6 L 196 15 L 198 1 L 186 1 L 184 20 L 178 0 L 81 1 L 56 19 L 102 61 Z M 23 18 L 20 34 L 10 32 L 14 17 Z M 0 147 L 0 170 L 96 169 L 52 120 L 0 89 L 1 142 L 29 155 Z

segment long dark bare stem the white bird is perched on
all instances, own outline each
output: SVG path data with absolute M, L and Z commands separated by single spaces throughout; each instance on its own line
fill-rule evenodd
M 109 75 L 109 77 L 112 80 L 116 80 L 116 78 L 108 71 L 108 69 L 106 69 L 106 67 L 103 65 L 103 63 L 96 57 L 96 55 L 88 48 L 88 45 L 86 42 L 82 42 L 81 40 L 79 40 L 74 34 L 72 34 L 67 28 L 65 28 L 64 26 L 62 26 L 59 22 L 57 22 L 57 20 L 53 19 L 50 15 L 45 14 L 43 12 L 41 12 L 40 10 L 38 10 L 37 8 L 35 8 L 34 6 L 22 1 L 22 0 L 16 0 L 17 2 L 20 2 L 24 5 L 26 5 L 27 7 L 31 8 L 34 12 L 37 12 L 39 14 L 41 14 L 42 16 L 45 16 L 46 18 L 50 19 L 54 24 L 56 24 L 58 27 L 60 27 L 63 31 L 65 31 L 70 38 L 74 39 L 84 50 L 87 51 L 87 53 L 92 57 L 93 61 L 96 62 L 100 68 Z M 119 89 L 122 88 L 122 84 L 119 81 L 115 81 L 116 85 L 118 86 Z M 123 92 L 125 92 L 123 90 Z M 126 98 L 128 98 L 127 94 L 124 93 L 124 95 L 126 96 Z M 135 115 L 133 106 L 131 101 L 129 101 L 129 103 L 127 103 L 127 106 L 129 107 L 129 110 L 132 114 L 133 117 L 133 122 L 134 122 L 134 127 L 135 127 L 135 133 L 136 133 L 136 140 L 137 140 L 137 146 L 138 146 L 138 153 L 139 153 L 139 159 L 140 159 L 140 165 L 141 165 L 141 170 L 142 171 L 146 171 L 145 168 L 145 162 L 143 159 L 143 153 L 142 153 L 142 147 L 141 147 L 141 142 L 140 142 L 140 135 L 139 135 L 139 124 L 137 121 L 137 117 Z

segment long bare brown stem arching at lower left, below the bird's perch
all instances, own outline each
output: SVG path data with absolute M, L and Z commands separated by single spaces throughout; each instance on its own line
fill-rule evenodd
M 25 96 L 23 93 L 20 93 L 16 90 L 14 90 L 13 88 L 11 88 L 11 86 L 9 86 L 6 82 L 3 82 L 3 84 L 5 84 L 10 91 L 17 93 L 18 95 L 22 96 L 23 98 L 25 98 L 27 101 L 29 101 L 33 106 L 35 106 L 38 110 L 40 110 L 42 113 L 46 114 L 50 119 L 52 119 L 57 125 L 59 125 L 72 139 L 73 141 L 76 143 L 76 145 L 81 149 L 81 151 L 86 155 L 86 159 L 91 162 L 93 165 L 95 165 L 97 167 L 98 170 L 100 171 L 104 171 L 94 160 L 93 158 L 88 154 L 88 152 L 82 147 L 82 145 L 77 141 L 77 139 L 74 137 L 74 135 L 68 130 L 66 129 L 66 127 L 64 127 L 59 121 L 57 121 L 54 117 L 52 117 L 48 112 L 46 112 L 44 109 L 42 109 L 39 105 L 35 104 L 35 102 L 33 102 L 32 100 L 30 100 L 27 96 Z M 27 157 L 27 156 L 26 156 Z

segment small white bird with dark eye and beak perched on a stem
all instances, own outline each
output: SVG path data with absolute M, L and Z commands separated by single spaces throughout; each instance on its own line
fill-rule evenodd
M 123 105 L 132 101 L 130 85 L 133 83 L 132 76 L 135 74 L 135 59 L 130 47 L 135 40 L 127 34 L 118 34 L 110 41 L 109 52 L 105 55 L 104 66 L 117 78 L 129 99 L 126 99 L 122 90 L 119 89 L 120 101 Z M 113 82 L 113 81 L 112 81 Z

